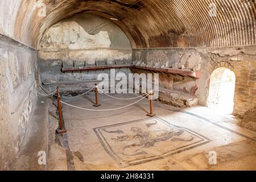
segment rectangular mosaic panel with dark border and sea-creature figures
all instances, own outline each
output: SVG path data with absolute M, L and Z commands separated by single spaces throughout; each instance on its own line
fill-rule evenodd
M 102 147 L 121 166 L 163 159 L 210 140 L 160 118 L 118 123 L 94 129 Z

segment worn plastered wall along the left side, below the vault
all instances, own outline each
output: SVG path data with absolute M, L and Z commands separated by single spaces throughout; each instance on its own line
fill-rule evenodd
M 36 103 L 38 53 L 0 36 L 0 169 L 18 155 Z

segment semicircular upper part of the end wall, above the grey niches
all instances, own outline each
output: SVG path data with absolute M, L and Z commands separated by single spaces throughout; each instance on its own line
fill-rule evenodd
M 102 20 L 94 15 L 78 14 L 74 17 L 54 24 L 44 33 L 40 43 L 40 59 L 59 60 L 61 64 L 72 63 L 72 66 L 77 61 L 84 65 L 85 62 L 95 64 L 96 61 L 106 61 L 114 64 L 115 60 L 131 60 L 129 39 L 118 26 L 112 24 L 98 34 L 90 35 L 86 31 Z

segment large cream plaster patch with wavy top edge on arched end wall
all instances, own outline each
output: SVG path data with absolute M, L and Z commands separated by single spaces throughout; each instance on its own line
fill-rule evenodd
M 68 48 L 90 49 L 109 48 L 111 41 L 106 31 L 96 35 L 88 34 L 78 23 L 60 22 L 49 28 L 42 39 L 41 46 L 45 49 Z

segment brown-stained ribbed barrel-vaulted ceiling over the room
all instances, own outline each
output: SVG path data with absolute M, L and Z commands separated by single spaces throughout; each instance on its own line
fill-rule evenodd
M 2 34 L 38 48 L 44 31 L 81 11 L 114 21 L 133 48 L 186 48 L 255 45 L 254 0 L 44 0 L 46 17 L 31 0 L 1 0 Z M 215 3 L 217 16 L 209 16 Z M 9 13 L 12 12 L 12 13 Z M 8 17 L 11 16 L 11 17 Z M 15 16 L 15 18 L 13 17 Z M 92 27 L 93 28 L 93 27 Z

